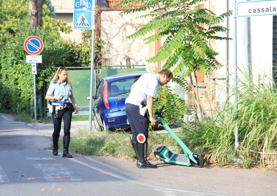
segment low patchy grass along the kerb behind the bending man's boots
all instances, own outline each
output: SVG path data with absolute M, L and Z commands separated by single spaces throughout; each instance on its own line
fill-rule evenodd
M 106 155 L 117 156 L 133 159 L 136 157 L 130 143 L 131 132 L 124 131 L 98 131 L 92 132 L 88 130 L 79 130 L 71 134 L 69 150 L 71 152 L 86 155 Z M 62 148 L 62 140 L 59 142 Z M 176 148 L 176 142 L 168 134 L 155 134 L 149 131 L 148 137 L 148 159 L 156 159 L 154 157 L 154 149 L 161 145 L 172 146 Z

